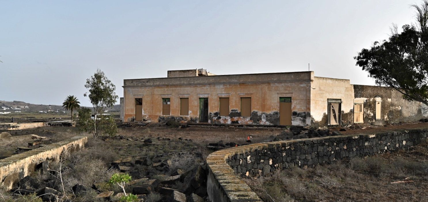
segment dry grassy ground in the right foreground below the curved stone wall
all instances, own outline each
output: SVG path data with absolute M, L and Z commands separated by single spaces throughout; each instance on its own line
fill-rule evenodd
M 428 147 L 245 179 L 266 202 L 428 201 Z M 406 178 L 414 182 L 396 183 Z

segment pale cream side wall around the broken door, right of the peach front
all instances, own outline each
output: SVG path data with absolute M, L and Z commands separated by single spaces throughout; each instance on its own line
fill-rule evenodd
M 314 77 L 311 84 L 312 126 L 327 126 L 328 99 L 340 99 L 341 124 L 353 123 L 354 87 L 348 79 Z

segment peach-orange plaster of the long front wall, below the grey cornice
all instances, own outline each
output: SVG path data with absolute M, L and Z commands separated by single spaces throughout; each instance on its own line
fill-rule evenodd
M 310 76 L 313 75 L 312 72 L 306 74 L 309 74 L 307 78 L 311 78 Z M 213 114 L 219 111 L 219 97 L 229 97 L 229 110 L 236 109 L 238 111 L 241 110 L 240 98 L 251 97 L 252 111 L 268 114 L 279 111 L 279 97 L 292 97 L 292 111 L 309 113 L 310 80 L 197 86 L 124 86 L 124 97 L 124 121 L 131 121 L 135 116 L 135 98 L 143 98 L 143 120 L 152 122 L 158 122 L 159 117 L 162 117 L 162 98 L 170 98 L 170 115 L 178 117 L 180 116 L 180 98 L 188 97 L 189 116 L 181 116 L 184 119 L 199 119 L 199 97 L 208 97 L 208 111 Z M 248 119 L 242 120 L 243 124 L 253 123 Z M 264 123 L 273 124 L 269 121 Z M 308 124 L 310 124 L 310 117 L 292 121 L 292 125 Z

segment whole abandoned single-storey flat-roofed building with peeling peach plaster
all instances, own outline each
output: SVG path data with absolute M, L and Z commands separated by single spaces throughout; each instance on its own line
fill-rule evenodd
M 124 122 L 326 126 L 425 118 L 425 105 L 387 87 L 351 85 L 314 72 L 214 75 L 172 70 L 168 77 L 125 79 Z M 383 123 L 383 122 L 382 122 Z

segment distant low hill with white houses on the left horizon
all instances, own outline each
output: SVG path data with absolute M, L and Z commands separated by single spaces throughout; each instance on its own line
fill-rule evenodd
M 92 108 L 92 107 L 88 107 Z M 108 111 L 120 111 L 120 105 L 114 105 L 113 108 L 107 108 Z M 2 101 L 0 100 L 0 112 L 7 111 L 21 111 L 21 112 L 32 112 L 32 111 L 65 111 L 62 105 L 36 105 L 23 101 Z

